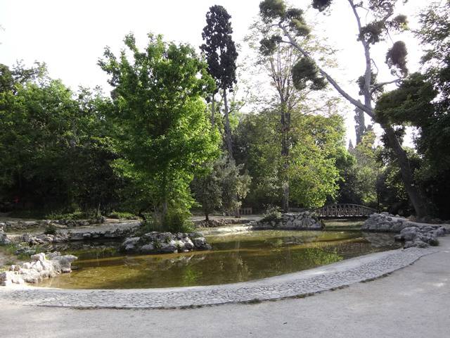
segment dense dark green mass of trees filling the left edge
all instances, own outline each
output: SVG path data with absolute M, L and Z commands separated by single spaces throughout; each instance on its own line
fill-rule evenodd
M 2 69 L 13 85 L 0 92 L 0 199 L 16 210 L 107 208 L 119 182 L 101 94 L 72 93 L 41 65 Z

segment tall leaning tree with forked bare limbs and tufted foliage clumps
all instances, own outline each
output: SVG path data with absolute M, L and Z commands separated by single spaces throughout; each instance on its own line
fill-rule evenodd
M 364 102 L 359 101 L 346 92 L 321 65 L 316 63 L 311 56 L 311 52 L 302 46 L 300 42 L 302 39 L 307 38 L 309 28 L 305 23 L 301 9 L 288 8 L 283 0 L 264 0 L 260 3 L 259 9 L 263 20 L 266 22 L 267 29 L 273 30 L 276 27 L 276 32 L 274 32 L 271 41 L 285 42 L 295 46 L 297 51 L 302 54 L 300 61 L 293 67 L 293 77 L 297 84 L 311 83 L 321 87 L 323 82 L 328 81 L 347 101 L 367 113 L 373 120 L 377 120 L 373 109 L 373 101 L 376 99 L 380 88 L 386 84 L 398 82 L 401 77 L 408 73 L 406 68 L 407 51 L 404 42 L 399 41 L 392 45 L 387 51 L 385 61 L 390 66 L 395 78 L 379 82 L 373 75 L 372 65 L 374 61 L 371 56 L 371 47 L 383 41 L 390 31 L 403 30 L 406 26 L 406 17 L 404 15 L 394 16 L 394 6 L 397 0 L 347 1 L 349 11 L 354 16 L 359 42 L 363 46 L 364 54 L 362 57 L 365 61 L 365 70 L 364 75 L 360 77 L 358 82 Z M 332 2 L 332 0 L 314 0 L 312 5 L 319 11 L 325 11 L 330 8 Z M 364 15 L 362 11 L 364 11 Z M 365 18 L 366 22 L 364 23 L 361 18 Z M 281 35 L 278 34 L 278 30 L 281 30 Z M 385 131 L 389 146 L 397 155 L 401 177 L 416 215 L 421 217 L 427 213 L 426 204 L 414 180 L 406 151 L 402 148 L 394 127 L 383 122 L 380 125 Z

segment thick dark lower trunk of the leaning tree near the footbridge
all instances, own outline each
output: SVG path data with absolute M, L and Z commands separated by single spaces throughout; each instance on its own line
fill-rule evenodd
M 392 127 L 390 127 L 389 125 L 382 125 L 382 127 L 385 130 L 387 141 L 389 142 L 391 149 L 397 155 L 401 180 L 403 180 L 406 193 L 411 200 L 411 204 L 416 211 L 417 217 L 422 218 L 427 215 L 427 205 L 425 203 L 425 200 L 423 199 L 423 196 L 420 194 L 418 187 L 416 187 L 416 184 L 414 183 L 413 173 L 411 170 L 411 166 L 409 165 L 409 159 L 406 155 L 406 151 L 404 151 L 404 149 L 401 147 L 399 139 L 397 139 L 397 136 L 395 135 Z

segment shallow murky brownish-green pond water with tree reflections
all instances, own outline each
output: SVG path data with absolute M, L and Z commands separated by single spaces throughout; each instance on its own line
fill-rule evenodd
M 79 257 L 70 274 L 39 287 L 144 289 L 245 282 L 397 249 L 392 234 L 260 230 L 207 236 L 210 251 L 123 256 L 117 243 L 65 250 Z M 78 244 L 79 245 L 79 244 Z

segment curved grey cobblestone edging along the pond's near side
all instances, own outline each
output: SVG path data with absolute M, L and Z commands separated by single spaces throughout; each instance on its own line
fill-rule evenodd
M 382 277 L 437 252 L 436 248 L 385 251 L 311 270 L 253 282 L 207 287 L 129 290 L 0 289 L 0 303 L 75 308 L 183 308 L 306 296 Z

